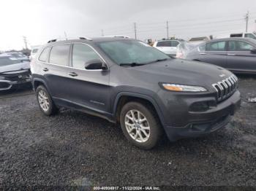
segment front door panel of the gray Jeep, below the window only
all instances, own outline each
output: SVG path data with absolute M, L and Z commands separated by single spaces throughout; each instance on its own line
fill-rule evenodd
M 110 87 L 109 71 L 86 71 L 69 69 L 69 73 L 77 76 L 68 76 L 67 87 L 69 93 L 67 99 L 91 109 L 99 109 L 110 112 Z

